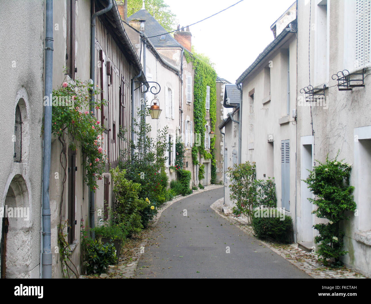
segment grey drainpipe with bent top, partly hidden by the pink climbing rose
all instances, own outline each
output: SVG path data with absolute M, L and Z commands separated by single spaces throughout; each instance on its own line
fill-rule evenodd
M 95 18 L 105 14 L 109 10 L 112 9 L 112 0 L 108 0 L 108 6 L 105 9 L 100 10 L 99 12 L 96 12 L 91 17 L 91 23 L 90 23 L 90 79 L 93 84 L 94 88 L 94 79 L 95 79 Z M 90 101 L 90 111 L 93 112 L 92 116 L 95 116 L 95 96 L 92 93 L 91 94 L 91 101 Z M 102 122 L 103 123 L 103 122 Z M 90 191 L 89 194 L 89 224 L 90 228 L 95 227 L 95 197 L 94 197 L 94 191 Z M 94 231 L 91 230 L 91 237 L 95 238 Z

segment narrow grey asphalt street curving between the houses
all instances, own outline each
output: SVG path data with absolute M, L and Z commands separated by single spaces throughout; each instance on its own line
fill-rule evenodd
M 220 187 L 164 210 L 135 278 L 311 278 L 216 214 L 222 196 Z

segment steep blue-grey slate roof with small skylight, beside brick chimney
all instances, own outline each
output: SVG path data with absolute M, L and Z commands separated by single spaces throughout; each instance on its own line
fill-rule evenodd
M 158 23 L 157 20 L 145 9 L 138 10 L 138 12 L 129 16 L 127 19 L 128 23 L 133 19 L 145 20 L 144 32 L 148 37 L 161 35 L 167 32 L 167 30 L 165 30 L 160 23 Z M 170 34 L 166 34 L 165 40 L 160 40 L 160 38 L 161 36 L 150 38 L 150 41 L 156 48 L 163 46 L 183 48 L 183 46 Z

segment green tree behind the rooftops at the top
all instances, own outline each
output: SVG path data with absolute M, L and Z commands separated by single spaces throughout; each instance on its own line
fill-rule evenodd
M 128 1 L 128 17 L 138 12 L 142 8 L 142 0 L 127 0 Z M 146 0 L 145 9 L 150 13 L 158 23 L 167 31 L 174 30 L 176 15 L 171 12 L 164 0 Z

